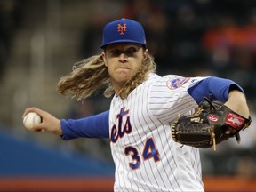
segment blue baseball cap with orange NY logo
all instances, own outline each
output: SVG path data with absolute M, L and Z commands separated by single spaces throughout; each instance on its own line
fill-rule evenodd
M 147 46 L 142 25 L 134 20 L 121 19 L 109 22 L 103 28 L 103 40 L 100 48 L 108 44 L 137 43 Z

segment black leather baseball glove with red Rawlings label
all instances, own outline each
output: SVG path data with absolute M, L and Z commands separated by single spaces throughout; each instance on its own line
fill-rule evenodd
M 196 148 L 213 146 L 216 150 L 217 144 L 230 137 L 236 136 L 239 143 L 239 132 L 247 128 L 251 121 L 251 117 L 247 119 L 236 114 L 220 101 L 212 101 L 210 95 L 209 99 L 204 97 L 196 113 L 181 116 L 172 124 L 172 138 L 183 145 Z

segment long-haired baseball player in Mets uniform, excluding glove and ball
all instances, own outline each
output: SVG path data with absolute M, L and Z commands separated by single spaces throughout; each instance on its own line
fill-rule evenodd
M 243 89 L 214 76 L 157 76 L 144 30 L 134 20 L 108 23 L 101 48 L 101 54 L 79 62 L 62 77 L 58 88 L 83 100 L 107 84 L 105 96 L 114 94 L 109 111 L 60 120 L 39 108 L 27 108 L 24 116 L 34 111 L 43 118 L 33 129 L 61 135 L 63 140 L 109 138 L 115 191 L 204 191 L 199 150 L 181 148 L 172 140 L 172 122 L 191 113 L 209 93 L 248 117 Z

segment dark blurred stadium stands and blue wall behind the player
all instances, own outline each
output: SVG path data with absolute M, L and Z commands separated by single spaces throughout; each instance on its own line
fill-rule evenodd
M 74 186 L 111 191 L 114 165 L 108 140 L 67 142 L 47 132 L 28 132 L 21 116 L 32 106 L 58 118 L 108 109 L 110 100 L 100 94 L 81 103 L 61 96 L 56 84 L 74 63 L 101 52 L 103 26 L 120 18 L 143 25 L 159 75 L 220 76 L 242 85 L 252 125 L 241 132 L 239 145 L 234 139 L 216 152 L 201 150 L 203 175 L 208 191 L 220 177 L 238 190 L 256 190 L 255 0 L 1 0 L 0 190 L 42 189 L 50 177 L 55 189 L 67 183 L 73 191 Z M 92 179 L 106 186 L 99 189 Z M 15 182 L 16 188 L 11 187 Z

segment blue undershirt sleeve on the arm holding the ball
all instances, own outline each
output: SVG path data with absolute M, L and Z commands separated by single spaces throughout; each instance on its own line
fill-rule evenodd
M 109 111 L 81 119 L 61 119 L 62 140 L 76 138 L 109 138 Z

